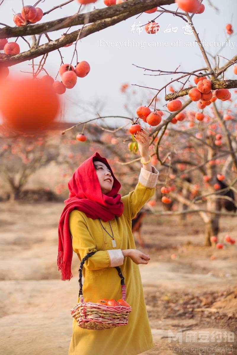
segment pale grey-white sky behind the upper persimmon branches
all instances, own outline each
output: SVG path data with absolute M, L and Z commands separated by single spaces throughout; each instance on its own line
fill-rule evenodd
M 236 0 L 211 1 L 219 8 L 219 12 L 216 12 L 215 9 L 210 7 L 208 1 L 204 0 L 205 11 L 193 17 L 194 26 L 199 33 L 201 41 L 205 42 L 205 49 L 211 55 L 215 55 L 217 51 L 220 50 L 220 42 L 223 42 L 224 48 L 220 52 L 220 55 L 231 59 L 237 53 L 237 2 Z M 33 5 L 35 2 L 36 0 L 29 0 L 25 1 L 24 4 Z M 55 2 L 54 0 L 45 0 L 40 3 L 38 7 L 41 7 L 43 11 L 47 11 L 60 2 L 62 3 L 63 1 Z M 82 12 L 92 10 L 93 6 L 97 9 L 105 7 L 103 0 L 98 0 L 95 4 L 84 6 Z M 21 7 L 21 0 L 5 0 L 0 6 L 0 22 L 14 26 L 12 20 L 14 12 L 21 12 Z M 172 4 L 169 6 L 166 5 L 165 8 L 175 11 L 177 7 L 176 4 Z M 56 9 L 48 15 L 45 15 L 40 22 L 74 15 L 78 9 L 79 3 L 73 1 L 62 9 Z M 179 65 L 179 70 L 183 71 L 192 71 L 206 66 L 200 49 L 193 44 L 193 41 L 195 41 L 194 35 L 184 34 L 182 27 L 185 26 L 185 22 L 181 18 L 166 13 L 161 15 L 156 20 L 160 25 L 160 31 L 156 35 L 147 34 L 144 29 L 142 29 L 140 33 L 136 30 L 138 29 L 136 25 L 145 24 L 154 17 L 154 14 L 142 13 L 138 18 L 136 18 L 136 16 L 131 17 L 112 27 L 93 33 L 77 43 L 79 61 L 88 61 L 91 70 L 85 78 L 78 78 L 74 88 L 67 89 L 66 93 L 61 95 L 65 99 L 66 121 L 77 122 L 94 118 L 95 115 L 91 115 L 87 112 L 87 110 L 91 111 L 91 107 L 88 106 L 87 103 L 95 102 L 100 102 L 101 107 L 103 107 L 103 109 L 99 110 L 101 115 L 128 116 L 128 113 L 123 108 L 126 101 L 125 95 L 120 93 L 122 84 L 138 84 L 152 88 L 160 88 L 170 81 L 171 77 L 174 77 L 171 75 L 158 77 L 144 76 L 144 71 L 136 68 L 133 64 L 150 69 L 167 71 L 174 71 Z M 225 25 L 230 22 L 234 29 L 234 33 L 231 37 L 226 34 L 225 30 Z M 134 33 L 133 25 L 135 26 Z M 169 28 L 173 27 L 173 31 L 164 33 L 163 31 L 166 30 L 167 26 L 169 26 Z M 80 26 L 72 27 L 68 33 L 75 31 L 77 28 L 80 28 Z M 50 38 L 56 39 L 65 31 L 60 30 L 49 32 L 48 34 Z M 15 38 L 12 40 L 15 40 Z M 31 42 L 31 37 L 28 36 L 27 40 Z M 216 43 L 214 43 L 214 41 Z M 41 44 L 43 42 L 47 42 L 44 36 L 42 36 Z M 163 47 L 157 47 L 157 43 L 159 42 L 163 43 Z M 17 43 L 20 45 L 21 51 L 27 50 L 28 46 L 21 38 L 18 39 Z M 187 43 L 191 43 L 191 47 L 188 47 Z M 71 62 L 73 51 L 74 45 L 61 49 L 64 63 Z M 74 57 L 73 65 L 76 64 L 75 60 Z M 225 62 L 226 60 L 220 57 L 221 65 Z M 30 63 L 31 62 L 23 62 L 12 66 L 10 67 L 10 72 L 18 72 L 19 70 L 28 71 L 31 68 L 28 65 Z M 35 63 L 38 63 L 38 59 L 35 59 Z M 212 60 L 211 64 L 213 65 Z M 59 66 L 60 56 L 58 51 L 51 52 L 46 61 L 45 69 L 55 78 Z M 227 70 L 225 78 L 235 78 L 232 68 Z M 58 79 L 59 77 L 57 80 Z M 178 89 L 179 86 L 180 84 L 173 85 L 174 89 Z M 146 104 L 145 98 L 150 95 L 150 92 L 152 94 L 156 93 L 156 90 L 149 92 L 146 88 L 136 86 L 133 86 L 133 88 L 136 91 L 136 98 L 139 105 Z M 163 97 L 164 92 L 159 95 L 162 105 L 166 103 Z M 76 106 L 74 103 L 77 103 L 80 107 Z M 192 108 L 195 109 L 195 103 L 192 105 Z M 136 113 L 134 107 L 132 107 L 132 109 L 135 117 Z M 107 122 L 112 125 L 114 120 L 114 118 L 107 119 Z M 122 119 L 116 121 L 118 125 L 125 123 L 125 120 Z

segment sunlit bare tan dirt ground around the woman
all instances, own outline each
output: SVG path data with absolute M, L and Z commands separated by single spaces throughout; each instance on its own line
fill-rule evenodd
M 79 263 L 74 253 L 74 277 L 62 282 L 56 258 L 63 206 L 0 203 L 2 355 L 68 354 Z M 143 221 L 146 246 L 136 247 L 151 258 L 139 267 L 155 346 L 142 355 L 237 354 L 237 246 L 203 247 L 196 215 Z M 219 241 L 226 233 L 236 238 L 236 228 L 236 218 L 222 217 Z

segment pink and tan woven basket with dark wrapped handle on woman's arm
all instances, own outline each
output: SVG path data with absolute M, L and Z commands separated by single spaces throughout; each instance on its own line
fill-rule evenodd
M 128 315 L 131 312 L 131 307 L 125 306 L 105 306 L 98 303 L 84 301 L 82 294 L 82 268 L 84 262 L 88 257 L 95 254 L 96 251 L 88 253 L 81 261 L 79 268 L 79 297 L 80 302 L 72 308 L 71 315 L 77 321 L 78 326 L 86 329 L 100 330 L 109 329 L 119 326 L 126 326 L 128 324 Z M 121 278 L 122 285 L 122 299 L 126 299 L 126 286 L 124 284 L 124 277 L 118 266 L 115 266 Z

